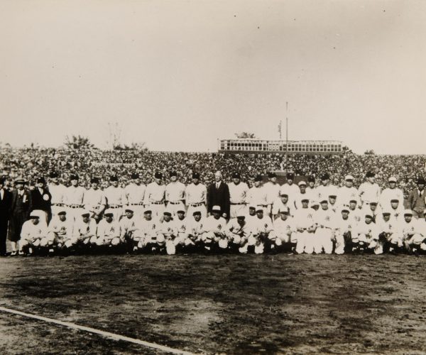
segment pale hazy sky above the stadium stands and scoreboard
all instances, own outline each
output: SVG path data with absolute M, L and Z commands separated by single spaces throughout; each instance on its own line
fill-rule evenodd
M 426 153 L 425 104 L 422 0 L 0 1 L 12 146 L 106 148 L 118 123 L 123 143 L 216 151 L 288 118 L 290 140 Z

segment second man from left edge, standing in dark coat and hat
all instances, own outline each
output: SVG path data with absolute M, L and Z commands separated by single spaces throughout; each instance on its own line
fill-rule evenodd
M 25 188 L 25 180 L 15 180 L 15 190 L 11 192 L 11 207 L 9 220 L 9 241 L 11 241 L 12 255 L 18 252 L 18 241 L 21 239 L 23 223 L 30 217 L 31 192 Z

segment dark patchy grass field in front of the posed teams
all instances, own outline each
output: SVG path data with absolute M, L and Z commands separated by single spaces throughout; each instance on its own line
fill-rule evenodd
M 426 258 L 0 259 L 3 307 L 195 353 L 426 351 Z M 160 354 L 0 312 L 0 354 Z

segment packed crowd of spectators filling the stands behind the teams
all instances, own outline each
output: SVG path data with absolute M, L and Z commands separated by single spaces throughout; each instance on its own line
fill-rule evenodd
M 33 182 L 37 177 L 55 171 L 65 185 L 70 185 L 73 173 L 80 175 L 80 184 L 89 186 L 92 177 L 100 178 L 102 186 L 109 185 L 109 177 L 116 175 L 121 185 L 126 185 L 131 173 L 138 173 L 146 184 L 153 181 L 155 171 L 168 177 L 171 170 L 178 172 L 180 180 L 190 182 L 193 172 L 201 175 L 201 182 L 214 180 L 214 172 L 221 170 L 225 181 L 231 173 L 239 171 L 241 180 L 251 185 L 256 175 L 270 171 L 292 171 L 295 175 L 319 177 L 329 173 L 332 183 L 342 186 L 344 176 L 354 176 L 354 186 L 364 181 L 367 171 L 376 173 L 382 188 L 387 179 L 395 176 L 404 195 L 416 185 L 417 178 L 425 173 L 426 155 L 289 155 L 239 154 L 239 153 L 178 153 L 150 151 L 105 151 L 99 149 L 70 150 L 63 148 L 1 148 L 0 175 L 12 185 L 18 177 Z

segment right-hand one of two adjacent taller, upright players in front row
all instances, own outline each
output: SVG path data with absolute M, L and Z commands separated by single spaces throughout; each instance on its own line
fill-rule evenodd
M 331 254 L 333 251 L 334 229 L 336 229 L 336 214 L 329 208 L 328 200 L 320 201 L 321 208 L 314 214 L 315 236 L 314 251 L 317 254 Z

